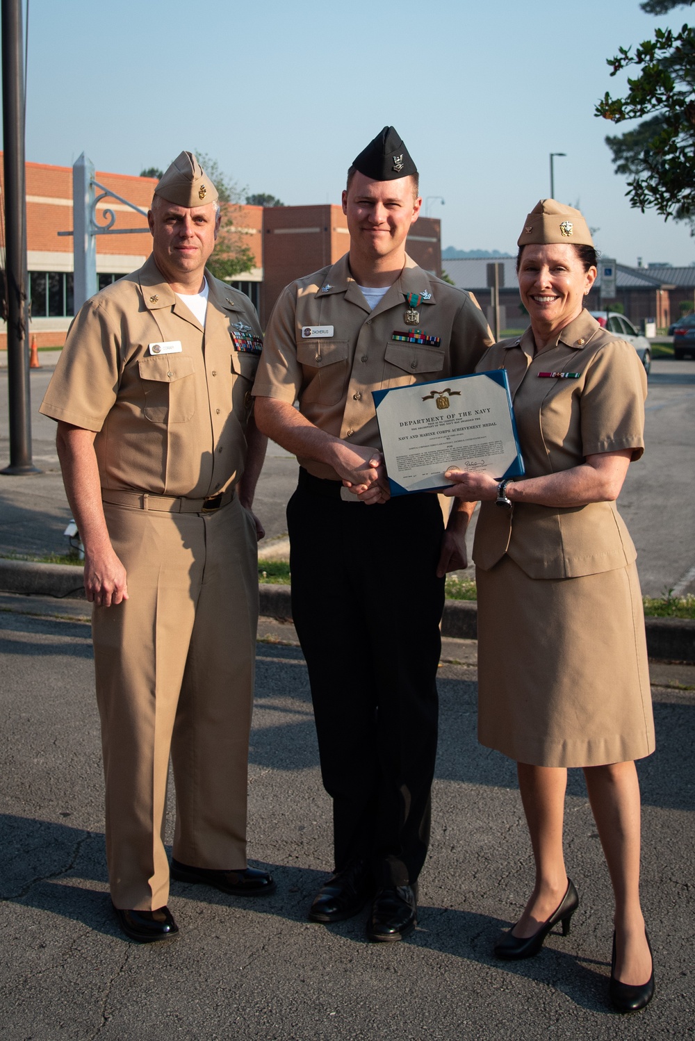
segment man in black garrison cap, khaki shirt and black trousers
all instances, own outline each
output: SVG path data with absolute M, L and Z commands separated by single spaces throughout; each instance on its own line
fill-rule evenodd
M 287 507 L 292 617 L 335 846 L 335 873 L 310 918 L 349 918 L 376 892 L 372 940 L 400 940 L 415 925 L 443 576 L 465 566 L 468 508 L 457 503 L 442 541 L 436 496 L 389 499 L 371 391 L 445 385 L 472 372 L 491 342 L 472 297 L 406 254 L 421 205 L 417 179 L 397 133 L 384 127 L 348 174 L 349 255 L 285 288 L 254 384 L 259 427 L 301 466 Z

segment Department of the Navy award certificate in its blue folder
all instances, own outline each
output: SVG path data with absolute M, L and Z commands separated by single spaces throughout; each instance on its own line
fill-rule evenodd
M 504 369 L 374 390 L 392 496 L 440 490 L 449 466 L 521 477 L 523 460 Z

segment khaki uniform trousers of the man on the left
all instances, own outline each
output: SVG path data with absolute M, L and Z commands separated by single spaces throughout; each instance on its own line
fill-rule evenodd
M 258 621 L 256 533 L 235 497 L 214 513 L 104 504 L 129 600 L 93 611 L 106 782 L 106 857 L 118 908 L 169 897 L 174 856 L 246 867 L 249 731 Z

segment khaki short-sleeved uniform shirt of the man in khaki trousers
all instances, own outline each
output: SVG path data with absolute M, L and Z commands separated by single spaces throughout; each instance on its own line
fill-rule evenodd
M 260 326 L 248 297 L 206 278 L 205 330 L 153 256 L 70 328 L 41 411 L 97 432 L 103 488 L 199 499 L 243 472 Z M 162 341 L 181 349 L 153 353 Z

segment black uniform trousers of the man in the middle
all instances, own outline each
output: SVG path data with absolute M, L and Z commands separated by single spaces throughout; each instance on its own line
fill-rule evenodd
M 287 504 L 292 618 L 306 657 L 335 869 L 414 882 L 430 838 L 444 580 L 433 494 L 378 506 L 300 472 Z

